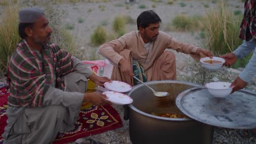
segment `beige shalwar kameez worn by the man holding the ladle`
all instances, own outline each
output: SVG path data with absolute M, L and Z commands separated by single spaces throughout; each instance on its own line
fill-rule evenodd
M 199 55 L 193 55 L 199 47 L 175 40 L 171 35 L 159 31 L 158 39 L 149 45 L 149 52 L 144 47 L 144 41 L 139 31 L 132 31 L 100 46 L 101 55 L 118 65 L 120 59 L 125 58 L 132 66 L 135 59 L 142 65 L 147 74 L 147 81 L 176 80 L 175 55 L 166 49 L 190 54 L 197 61 Z M 133 78 L 121 73 L 120 68 L 114 67 L 112 80 L 124 81 L 133 86 Z

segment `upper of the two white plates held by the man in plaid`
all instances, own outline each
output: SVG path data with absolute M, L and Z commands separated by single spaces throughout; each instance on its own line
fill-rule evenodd
M 128 83 L 122 81 L 105 82 L 104 87 L 110 91 L 125 93 L 131 91 L 132 87 Z

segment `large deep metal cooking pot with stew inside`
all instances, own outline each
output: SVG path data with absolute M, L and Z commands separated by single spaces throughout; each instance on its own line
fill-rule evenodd
M 136 143 L 212 143 L 214 127 L 190 118 L 165 118 L 150 113 L 183 114 L 176 106 L 179 93 L 193 87 L 191 82 L 150 81 L 147 85 L 155 91 L 169 92 L 167 97 L 155 97 L 143 84 L 134 86 L 127 93 L 133 103 L 129 105 L 129 132 L 133 144 Z

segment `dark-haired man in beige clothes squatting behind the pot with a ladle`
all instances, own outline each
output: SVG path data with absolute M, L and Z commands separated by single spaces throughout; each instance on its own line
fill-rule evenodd
M 175 56 L 166 49 L 190 54 L 196 60 L 213 56 L 206 49 L 182 43 L 159 31 L 160 22 L 160 17 L 153 10 L 144 11 L 137 18 L 138 31 L 131 31 L 100 46 L 100 54 L 120 66 L 113 68 L 112 80 L 124 81 L 133 86 L 133 60 L 143 67 L 147 81 L 176 80 Z

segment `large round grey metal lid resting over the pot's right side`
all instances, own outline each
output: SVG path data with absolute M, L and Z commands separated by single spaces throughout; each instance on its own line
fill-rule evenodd
M 256 128 L 256 93 L 236 91 L 216 98 L 206 87 L 188 89 L 178 95 L 176 105 L 196 121 L 223 128 Z

